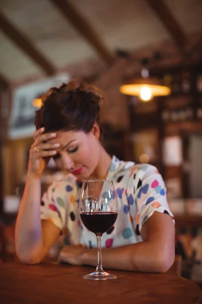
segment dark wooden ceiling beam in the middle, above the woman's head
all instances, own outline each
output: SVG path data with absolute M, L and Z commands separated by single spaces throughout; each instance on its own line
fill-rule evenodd
M 68 0 L 49 0 L 53 3 L 65 18 L 77 29 L 87 40 L 96 52 L 108 63 L 114 60 L 110 50 L 105 46 L 99 35 L 93 30 L 90 23 L 78 12 Z

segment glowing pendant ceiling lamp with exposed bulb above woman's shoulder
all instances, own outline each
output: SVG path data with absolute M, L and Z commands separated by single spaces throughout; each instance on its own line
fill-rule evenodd
M 156 78 L 139 78 L 130 84 L 120 87 L 120 92 L 126 95 L 138 96 L 142 101 L 149 101 L 154 96 L 170 95 L 171 89 L 160 84 Z

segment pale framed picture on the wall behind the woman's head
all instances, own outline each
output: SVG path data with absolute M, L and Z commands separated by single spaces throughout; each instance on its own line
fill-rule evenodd
M 32 102 L 51 87 L 61 86 L 70 80 L 68 73 L 32 82 L 17 87 L 13 91 L 11 116 L 9 120 L 9 138 L 16 139 L 32 136 L 35 131 L 34 119 L 36 107 Z

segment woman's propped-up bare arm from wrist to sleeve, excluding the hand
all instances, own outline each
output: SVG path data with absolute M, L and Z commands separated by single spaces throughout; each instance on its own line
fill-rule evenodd
M 38 263 L 60 236 L 60 229 L 40 219 L 40 180 L 27 180 L 15 228 L 16 253 L 24 263 Z

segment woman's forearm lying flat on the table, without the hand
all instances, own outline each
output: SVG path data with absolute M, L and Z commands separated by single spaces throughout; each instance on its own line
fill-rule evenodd
M 102 249 L 103 267 L 109 269 L 166 272 L 173 263 L 173 257 L 163 252 L 161 246 L 151 241 L 140 242 L 116 248 Z M 95 266 L 97 250 L 86 249 L 82 254 L 82 264 Z

